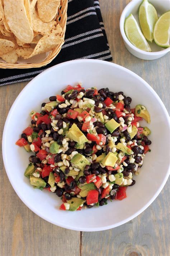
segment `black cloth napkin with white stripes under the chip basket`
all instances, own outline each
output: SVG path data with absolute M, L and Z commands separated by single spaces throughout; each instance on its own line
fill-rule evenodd
M 32 80 L 45 69 L 74 59 L 112 60 L 99 1 L 68 0 L 65 43 L 57 57 L 41 68 L 1 69 L 0 86 Z

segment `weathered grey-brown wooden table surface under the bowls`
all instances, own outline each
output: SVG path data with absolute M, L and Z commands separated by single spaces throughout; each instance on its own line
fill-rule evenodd
M 128 3 L 129 0 L 100 0 L 113 62 L 146 80 L 169 110 L 170 55 L 146 61 L 134 57 L 126 50 L 119 31 L 119 18 Z M 26 84 L 22 82 L 0 87 L 0 141 L 5 117 Z M 170 255 L 170 181 L 167 181 L 152 205 L 128 223 L 101 232 L 76 232 L 48 223 L 24 205 L 7 178 L 2 157 L 0 170 L 1 256 Z

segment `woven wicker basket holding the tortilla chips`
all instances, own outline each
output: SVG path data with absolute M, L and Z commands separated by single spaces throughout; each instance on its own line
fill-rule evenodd
M 62 33 L 62 41 L 61 43 L 53 49 L 47 58 L 41 62 L 41 63 L 3 63 L 0 62 L 0 68 L 39 68 L 42 66 L 46 66 L 48 63 L 50 63 L 57 55 L 60 53 L 61 46 L 64 44 L 64 37 L 65 37 L 65 31 L 66 31 L 66 21 L 67 21 L 67 5 L 68 0 L 61 0 L 60 8 L 58 9 L 58 17 L 56 18 L 56 21 L 60 24 L 62 27 L 63 33 Z

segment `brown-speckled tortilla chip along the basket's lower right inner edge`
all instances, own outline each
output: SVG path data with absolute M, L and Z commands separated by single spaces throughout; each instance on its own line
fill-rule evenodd
M 23 58 L 28 59 L 34 55 L 45 53 L 56 48 L 58 44 L 62 41 L 62 28 L 57 24 L 56 28 L 51 31 L 51 35 L 43 36 L 36 47 L 33 48 L 24 48 L 18 47 L 16 49 L 16 54 Z

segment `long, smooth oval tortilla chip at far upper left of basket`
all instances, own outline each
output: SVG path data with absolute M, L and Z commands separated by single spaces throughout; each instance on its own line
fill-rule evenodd
M 27 18 L 24 0 L 4 0 L 4 14 L 14 35 L 26 44 L 32 42 L 34 33 Z

